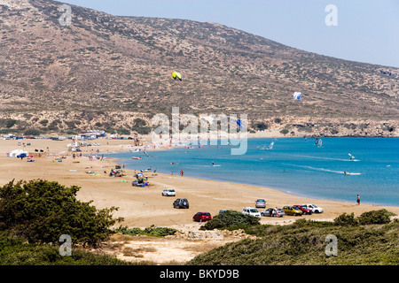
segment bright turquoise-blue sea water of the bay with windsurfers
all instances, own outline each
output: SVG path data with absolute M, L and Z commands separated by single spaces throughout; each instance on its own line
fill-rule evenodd
M 217 146 L 110 157 L 137 171 L 151 167 L 178 175 L 183 170 L 186 177 L 270 187 L 316 199 L 356 203 L 360 195 L 361 203 L 399 206 L 399 138 L 321 139 L 321 146 L 313 138 L 248 139 L 246 154 L 239 156 L 219 141 Z M 272 149 L 267 149 L 271 142 Z

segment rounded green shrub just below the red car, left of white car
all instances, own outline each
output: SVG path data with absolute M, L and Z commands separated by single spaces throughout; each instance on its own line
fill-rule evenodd
M 201 230 L 223 229 L 231 226 L 259 225 L 259 218 L 236 210 L 227 210 L 200 227 Z

